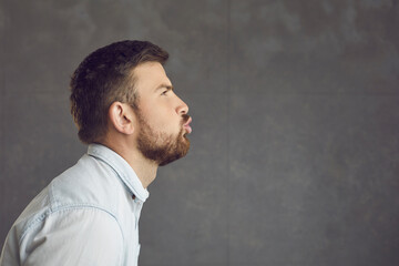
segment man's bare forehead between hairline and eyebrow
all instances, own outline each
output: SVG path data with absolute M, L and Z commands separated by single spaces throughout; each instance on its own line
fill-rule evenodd
M 141 86 L 157 86 L 160 83 L 171 83 L 166 72 L 158 62 L 144 62 L 139 64 L 133 70 L 137 88 Z

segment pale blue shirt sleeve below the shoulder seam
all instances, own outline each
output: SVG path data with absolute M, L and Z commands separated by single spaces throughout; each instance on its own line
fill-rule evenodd
M 58 211 L 32 227 L 20 245 L 21 265 L 121 265 L 122 232 L 102 209 Z

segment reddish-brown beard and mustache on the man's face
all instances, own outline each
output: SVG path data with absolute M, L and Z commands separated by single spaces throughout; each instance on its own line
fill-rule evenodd
M 154 131 L 140 112 L 137 112 L 137 119 L 141 126 L 137 149 L 144 157 L 163 166 L 187 154 L 190 140 L 184 133 L 183 124 L 188 121 L 190 115 L 182 115 L 181 131 L 177 135 Z

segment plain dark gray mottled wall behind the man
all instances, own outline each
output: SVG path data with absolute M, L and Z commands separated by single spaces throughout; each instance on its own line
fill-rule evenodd
M 85 152 L 70 74 L 144 39 L 194 132 L 149 187 L 142 266 L 399 265 L 398 1 L 2 0 L 0 31 L 1 242 Z

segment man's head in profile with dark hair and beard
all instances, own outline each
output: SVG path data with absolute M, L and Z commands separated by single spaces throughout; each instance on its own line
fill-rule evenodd
M 134 132 L 137 150 L 158 165 L 184 156 L 188 108 L 172 90 L 163 69 L 167 58 L 143 41 L 115 42 L 85 58 L 71 80 L 71 113 L 80 140 L 102 142 L 114 125 L 121 134 Z M 125 131 L 119 122 L 130 122 L 134 130 Z

